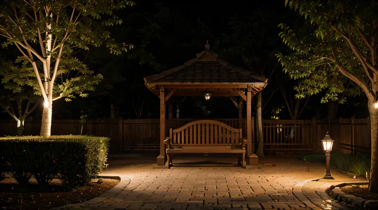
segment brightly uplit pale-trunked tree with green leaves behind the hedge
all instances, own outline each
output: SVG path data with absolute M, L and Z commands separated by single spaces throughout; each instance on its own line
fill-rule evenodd
M 70 100 L 75 93 L 85 97 L 85 91 L 101 79 L 74 53 L 105 45 L 119 55 L 133 46 L 117 43 L 107 30 L 122 23 L 114 12 L 132 5 L 133 1 L 126 0 L 15 0 L 0 5 L 0 34 L 6 38 L 3 47 L 14 45 L 31 64 L 45 101 L 41 135 L 50 135 L 54 99 Z M 73 71 L 80 77 L 71 76 Z

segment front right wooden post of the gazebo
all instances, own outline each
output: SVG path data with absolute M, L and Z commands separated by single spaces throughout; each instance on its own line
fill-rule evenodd
M 251 165 L 250 155 L 253 153 L 252 148 L 252 88 L 247 88 L 247 165 Z

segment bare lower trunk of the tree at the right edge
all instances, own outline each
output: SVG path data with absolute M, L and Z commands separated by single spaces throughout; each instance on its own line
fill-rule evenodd
M 370 133 L 371 133 L 371 165 L 369 191 L 378 192 L 378 109 L 374 108 L 375 99 L 369 99 Z

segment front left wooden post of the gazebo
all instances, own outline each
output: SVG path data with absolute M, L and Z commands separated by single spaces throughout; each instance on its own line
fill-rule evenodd
M 160 154 L 157 158 L 157 165 L 165 165 L 165 90 L 164 85 L 159 86 L 160 90 Z

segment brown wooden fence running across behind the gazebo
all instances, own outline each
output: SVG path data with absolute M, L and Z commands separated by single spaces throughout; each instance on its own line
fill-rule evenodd
M 179 128 L 198 119 L 166 120 L 166 131 Z M 238 119 L 215 119 L 239 128 Z M 256 142 L 256 124 L 252 120 L 253 142 Z M 370 154 L 369 119 L 312 120 L 262 120 L 264 150 L 267 152 L 322 152 L 321 140 L 329 131 L 334 139 L 334 149 L 346 154 Z M 25 121 L 25 135 L 39 135 L 41 122 Z M 247 136 L 247 123 L 242 122 L 243 136 Z M 53 120 L 52 135 L 80 134 L 79 120 Z M 84 134 L 106 136 L 111 139 L 110 152 L 121 153 L 133 150 L 159 149 L 159 119 L 116 119 L 91 120 L 84 128 Z M 0 120 L 0 136 L 15 135 L 16 122 Z

